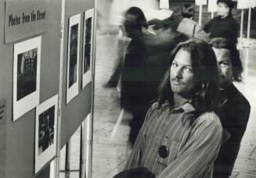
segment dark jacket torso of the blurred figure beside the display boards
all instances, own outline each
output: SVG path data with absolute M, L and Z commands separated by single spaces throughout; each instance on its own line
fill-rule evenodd
M 121 107 L 129 112 L 146 110 L 148 98 L 145 94 L 146 34 L 138 32 L 130 41 L 124 56 L 124 69 L 121 75 Z M 150 107 L 150 103 L 148 104 Z M 143 108 L 143 109 L 142 109 Z

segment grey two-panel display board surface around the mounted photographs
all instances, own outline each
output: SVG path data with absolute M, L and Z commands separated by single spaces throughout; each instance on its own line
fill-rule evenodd
M 13 45 L 30 39 L 4 44 L 5 1 L 0 0 L 0 100 L 6 99 L 6 119 L 0 120 L 0 177 L 32 178 L 49 175 L 49 166 L 34 175 L 34 132 L 35 109 L 13 122 Z M 32 0 L 31 0 L 32 1 Z M 61 0 L 48 3 L 47 32 L 41 35 L 41 82 L 40 103 L 59 93 L 59 50 L 61 30 Z M 61 123 L 61 147 L 90 112 L 92 83 L 81 90 L 79 74 L 79 94 L 66 105 L 67 77 L 67 33 L 68 17 L 81 13 L 81 39 L 83 37 L 84 11 L 94 7 L 94 1 L 67 0 L 65 13 L 64 54 L 63 54 L 63 103 Z M 35 35 L 38 36 L 38 35 Z M 35 37 L 34 36 L 34 37 Z M 80 63 L 82 40 L 80 40 Z M 79 71 L 81 71 L 81 66 Z

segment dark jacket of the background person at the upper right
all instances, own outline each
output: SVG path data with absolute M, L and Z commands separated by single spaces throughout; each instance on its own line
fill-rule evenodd
M 224 37 L 235 44 L 237 43 L 239 25 L 231 14 L 223 19 L 216 16 L 204 26 L 204 30 L 211 33 L 210 38 Z

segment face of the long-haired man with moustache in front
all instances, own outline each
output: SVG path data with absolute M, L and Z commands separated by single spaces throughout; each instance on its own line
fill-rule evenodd
M 190 98 L 195 86 L 193 67 L 190 53 L 179 49 L 171 63 L 170 80 L 171 90 L 183 98 Z

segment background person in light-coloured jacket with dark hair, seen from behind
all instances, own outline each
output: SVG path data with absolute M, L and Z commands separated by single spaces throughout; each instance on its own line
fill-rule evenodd
M 210 37 L 200 27 L 200 25 L 193 20 L 195 16 L 195 5 L 192 3 L 182 4 L 182 21 L 178 24 L 178 32 L 188 35 L 189 37 L 197 38 L 209 42 Z

